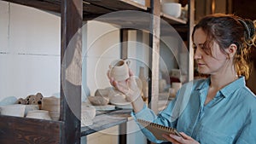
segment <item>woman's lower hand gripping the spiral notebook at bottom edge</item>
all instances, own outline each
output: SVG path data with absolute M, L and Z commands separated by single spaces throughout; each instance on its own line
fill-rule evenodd
M 195 141 L 192 137 L 189 135 L 186 135 L 185 133 L 181 132 L 181 135 L 183 137 L 177 136 L 177 135 L 163 135 L 163 137 L 166 138 L 167 141 L 171 141 L 172 144 L 199 144 L 198 141 Z

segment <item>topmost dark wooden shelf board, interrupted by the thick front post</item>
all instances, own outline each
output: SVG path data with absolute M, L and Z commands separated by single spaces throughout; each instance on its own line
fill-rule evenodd
M 61 0 L 3 0 L 10 3 L 17 3 L 61 13 Z M 138 10 L 147 11 L 148 8 L 140 3 L 131 0 L 84 0 L 83 1 L 83 16 L 84 20 L 94 19 L 102 14 L 108 14 L 119 10 Z

